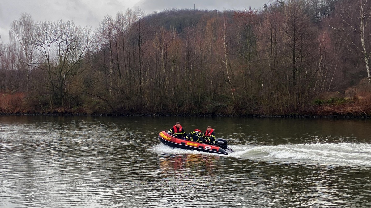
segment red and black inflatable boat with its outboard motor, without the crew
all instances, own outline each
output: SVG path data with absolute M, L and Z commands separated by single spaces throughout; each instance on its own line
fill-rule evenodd
M 186 150 L 198 150 L 223 155 L 227 155 L 228 152 L 233 152 L 231 148 L 227 147 L 227 140 L 224 140 L 222 138 L 217 138 L 214 145 L 184 140 L 182 138 L 178 138 L 177 136 L 170 132 L 161 131 L 160 134 L 158 134 L 158 139 L 162 143 L 170 147 L 177 147 Z

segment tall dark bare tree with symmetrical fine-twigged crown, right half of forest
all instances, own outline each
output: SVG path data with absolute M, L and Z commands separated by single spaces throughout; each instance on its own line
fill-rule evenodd
M 287 90 L 292 96 L 296 110 L 298 104 L 303 104 L 308 87 L 315 73 L 315 41 L 316 31 L 313 30 L 309 16 L 305 14 L 306 4 L 302 0 L 293 0 L 285 4 L 282 24 L 283 47 L 280 52 L 285 56 L 288 82 Z

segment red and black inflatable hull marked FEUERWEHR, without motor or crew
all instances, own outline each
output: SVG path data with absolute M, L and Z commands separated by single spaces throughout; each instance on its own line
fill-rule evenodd
M 203 152 L 211 152 L 217 154 L 227 155 L 228 152 L 217 145 L 205 144 L 200 142 L 183 140 L 173 135 L 168 134 L 166 131 L 161 131 L 158 134 L 158 139 L 170 147 L 177 147 L 186 150 L 198 150 Z

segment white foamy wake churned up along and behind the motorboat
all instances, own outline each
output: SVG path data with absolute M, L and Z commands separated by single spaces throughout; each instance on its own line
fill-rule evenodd
M 319 163 L 325 165 L 362 165 L 371 167 L 371 144 L 314 143 L 285 144 L 278 146 L 228 145 L 234 152 L 224 157 L 246 158 L 248 160 L 281 163 Z M 155 145 L 151 149 L 158 153 L 211 154 Z M 219 155 L 220 156 L 220 155 Z

